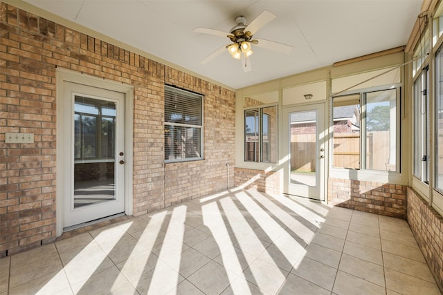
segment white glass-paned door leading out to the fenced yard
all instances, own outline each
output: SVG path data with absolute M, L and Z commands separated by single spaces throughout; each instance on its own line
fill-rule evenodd
M 284 193 L 324 200 L 325 104 L 284 108 Z

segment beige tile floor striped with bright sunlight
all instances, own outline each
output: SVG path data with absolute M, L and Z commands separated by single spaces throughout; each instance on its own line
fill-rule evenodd
M 3 258 L 0 283 L 1 295 L 440 294 L 406 221 L 244 190 Z

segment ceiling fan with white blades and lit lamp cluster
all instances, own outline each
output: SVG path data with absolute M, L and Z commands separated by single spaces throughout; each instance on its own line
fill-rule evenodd
M 281 53 L 290 53 L 292 50 L 292 46 L 290 45 L 265 39 L 253 39 L 253 35 L 273 19 L 275 19 L 275 15 L 272 12 L 264 10 L 248 25 L 246 25 L 246 17 L 237 17 L 235 19 L 235 23 L 237 25 L 230 29 L 229 32 L 213 30 L 210 28 L 195 28 L 194 32 L 219 37 L 228 37 L 230 41 L 233 42 L 232 44 L 228 44 L 222 48 L 219 48 L 218 50 L 215 50 L 215 52 L 211 53 L 208 55 L 208 57 L 200 61 L 200 64 L 207 64 L 210 60 L 214 59 L 221 53 L 224 53 L 227 48 L 228 52 L 233 58 L 242 60 L 243 70 L 244 72 L 248 72 L 251 70 L 251 61 L 249 60 L 249 57 L 253 54 L 252 45 L 275 50 Z

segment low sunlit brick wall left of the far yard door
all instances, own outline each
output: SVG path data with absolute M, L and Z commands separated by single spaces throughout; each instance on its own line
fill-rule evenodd
M 235 168 L 235 187 L 256 189 L 265 193 L 281 193 L 281 171 Z

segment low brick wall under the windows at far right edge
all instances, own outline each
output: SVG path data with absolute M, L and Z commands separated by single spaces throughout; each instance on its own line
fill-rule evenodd
M 443 292 L 443 217 L 408 187 L 408 223 Z

